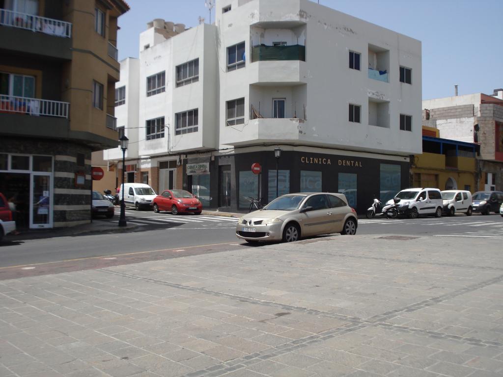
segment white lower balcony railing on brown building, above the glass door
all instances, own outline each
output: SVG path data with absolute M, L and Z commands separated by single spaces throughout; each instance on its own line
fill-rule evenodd
M 69 107 L 67 102 L 0 95 L 0 113 L 68 118 Z

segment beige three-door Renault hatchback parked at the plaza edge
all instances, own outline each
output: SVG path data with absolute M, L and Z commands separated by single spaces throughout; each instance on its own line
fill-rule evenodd
M 241 217 L 236 236 L 249 243 L 297 241 L 318 234 L 356 234 L 356 211 L 344 194 L 298 193 L 282 195 L 261 210 Z

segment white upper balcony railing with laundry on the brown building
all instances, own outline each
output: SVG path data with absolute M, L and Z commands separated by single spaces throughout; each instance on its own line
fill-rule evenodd
M 0 9 L 0 25 L 71 38 L 69 22 Z

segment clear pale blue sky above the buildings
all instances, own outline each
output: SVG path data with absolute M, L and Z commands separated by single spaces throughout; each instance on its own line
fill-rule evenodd
M 199 17 L 210 21 L 205 0 L 126 2 L 131 9 L 119 18 L 119 60 L 138 57 L 139 34 L 154 18 L 186 28 L 199 25 Z M 420 40 L 424 100 L 454 96 L 455 84 L 459 95 L 492 95 L 493 89 L 503 87 L 503 0 L 319 0 L 319 4 Z

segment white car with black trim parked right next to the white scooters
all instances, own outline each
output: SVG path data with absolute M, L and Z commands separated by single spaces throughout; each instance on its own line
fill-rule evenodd
M 439 189 L 430 187 L 416 187 L 415 189 L 405 189 L 396 194 L 399 199 L 398 214 L 406 215 L 410 219 L 415 219 L 419 215 L 435 215 L 442 217 L 442 194 Z M 387 204 L 393 204 L 393 199 Z

